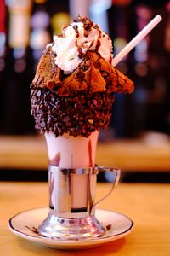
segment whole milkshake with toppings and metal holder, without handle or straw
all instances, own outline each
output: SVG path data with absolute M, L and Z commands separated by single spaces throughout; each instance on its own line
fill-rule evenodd
M 111 66 L 112 60 L 111 38 L 79 15 L 54 36 L 37 66 L 31 114 L 37 131 L 46 137 L 49 160 L 50 212 L 39 228 L 43 236 L 77 239 L 105 231 L 93 209 L 96 144 L 99 131 L 110 123 L 114 93 L 134 89 L 133 82 Z M 60 218 L 63 223 L 66 218 L 67 231 Z M 72 218 L 77 231 L 69 222 Z

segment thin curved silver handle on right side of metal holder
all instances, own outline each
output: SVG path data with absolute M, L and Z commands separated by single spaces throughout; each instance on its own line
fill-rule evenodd
M 104 167 L 104 166 L 99 166 L 97 167 L 99 172 L 114 172 L 115 173 L 115 178 L 114 181 L 112 182 L 111 190 L 107 195 L 105 195 L 103 198 L 101 198 L 99 201 L 97 201 L 94 206 L 91 208 L 91 215 L 94 215 L 95 212 L 95 207 L 100 204 L 101 201 L 104 201 L 105 198 L 107 198 L 109 195 L 111 195 L 113 189 L 116 187 L 117 183 L 119 182 L 120 176 L 121 176 L 121 170 L 116 169 L 116 168 L 109 168 L 109 167 Z

